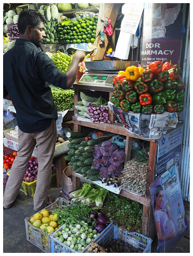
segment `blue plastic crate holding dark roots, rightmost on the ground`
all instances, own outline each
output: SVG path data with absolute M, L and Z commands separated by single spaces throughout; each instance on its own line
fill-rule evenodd
M 141 249 L 143 253 L 151 253 L 151 243 L 153 241 L 151 238 L 136 232 L 128 232 L 124 229 L 120 229 L 114 224 L 108 227 L 108 231 L 101 237 L 96 238 L 95 243 L 106 248 L 112 239 L 121 239 L 123 242 L 132 244 L 135 248 Z M 140 237 L 140 240 L 138 240 L 137 237 Z M 87 253 L 87 249 L 84 253 Z

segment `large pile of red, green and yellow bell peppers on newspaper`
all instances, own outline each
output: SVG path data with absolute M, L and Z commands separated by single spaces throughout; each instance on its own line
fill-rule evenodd
M 163 114 L 184 110 L 185 85 L 172 62 L 155 61 L 144 69 L 129 66 L 115 76 L 111 102 L 124 111 Z

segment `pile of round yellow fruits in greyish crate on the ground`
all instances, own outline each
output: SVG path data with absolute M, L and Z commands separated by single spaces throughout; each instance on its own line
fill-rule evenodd
M 49 214 L 47 209 L 41 210 L 41 212 L 35 213 L 30 219 L 30 223 L 36 228 L 44 230 L 46 233 L 51 233 L 54 230 L 59 229 L 60 225 L 57 223 L 58 214 Z

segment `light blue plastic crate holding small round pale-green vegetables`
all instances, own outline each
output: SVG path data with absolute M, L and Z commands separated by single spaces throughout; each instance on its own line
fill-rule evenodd
M 96 242 L 98 240 L 102 240 L 103 237 L 106 237 L 108 235 L 109 230 L 113 229 L 113 222 L 111 222 L 93 241 Z M 62 230 L 63 228 L 60 227 L 56 231 Z M 90 245 L 87 245 L 83 251 L 75 251 L 72 248 L 68 247 L 64 243 L 60 242 L 56 238 L 54 238 L 54 235 L 50 235 L 51 238 L 51 253 L 85 253 L 87 252 L 87 248 Z

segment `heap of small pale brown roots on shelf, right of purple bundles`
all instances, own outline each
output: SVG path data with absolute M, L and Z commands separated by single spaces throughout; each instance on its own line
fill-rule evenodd
M 121 179 L 121 187 L 123 190 L 132 190 L 137 193 L 146 193 L 148 162 L 139 164 L 135 160 L 126 163 L 123 169 L 123 179 Z

